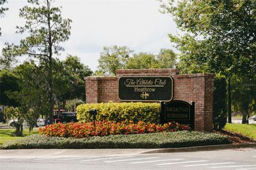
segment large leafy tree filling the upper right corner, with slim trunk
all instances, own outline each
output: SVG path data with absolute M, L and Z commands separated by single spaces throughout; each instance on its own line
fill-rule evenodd
M 231 122 L 230 79 L 256 73 L 256 0 L 168 1 L 161 7 L 184 31 L 169 35 L 183 64 L 227 77 Z

